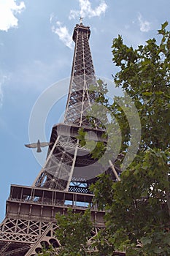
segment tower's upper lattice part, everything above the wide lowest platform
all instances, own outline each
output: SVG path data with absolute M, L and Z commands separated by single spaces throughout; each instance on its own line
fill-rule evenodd
M 88 26 L 75 26 L 75 42 L 72 75 L 63 124 L 53 127 L 49 154 L 45 166 L 34 181 L 36 187 L 88 192 L 93 179 L 104 167 L 90 157 L 88 148 L 81 147 L 77 139 L 83 128 L 90 140 L 102 139 L 102 126 L 97 118 L 90 116 L 90 110 L 98 97 L 92 86 L 98 87 L 93 68 L 88 39 Z

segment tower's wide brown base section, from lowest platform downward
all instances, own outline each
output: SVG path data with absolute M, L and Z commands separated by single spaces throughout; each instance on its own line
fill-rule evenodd
M 57 252 L 60 243 L 55 238 L 55 214 L 66 214 L 69 207 L 83 212 L 90 206 L 93 233 L 97 234 L 104 227 L 104 211 L 97 211 L 92 200 L 91 194 L 12 185 L 7 214 L 1 223 L 0 255 L 36 255 L 45 243 L 52 244 Z

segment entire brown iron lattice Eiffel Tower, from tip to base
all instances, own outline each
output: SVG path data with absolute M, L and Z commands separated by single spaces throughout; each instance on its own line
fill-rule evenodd
M 77 137 L 83 128 L 90 140 L 104 141 L 104 127 L 97 118 L 89 118 L 98 97 L 97 92 L 90 91 L 91 85 L 98 85 L 89 37 L 89 26 L 80 20 L 72 37 L 74 58 L 64 121 L 52 129 L 47 159 L 34 184 L 10 187 L 6 217 L 0 225 L 0 255 L 34 256 L 41 252 L 42 245 L 52 245 L 57 255 L 60 242 L 55 237 L 58 227 L 55 214 L 66 214 L 69 207 L 83 213 L 90 206 L 94 226 L 89 252 L 93 238 L 104 228 L 104 211 L 93 205 L 94 195 L 89 191 L 104 167 L 91 157 L 88 148 L 80 146 Z

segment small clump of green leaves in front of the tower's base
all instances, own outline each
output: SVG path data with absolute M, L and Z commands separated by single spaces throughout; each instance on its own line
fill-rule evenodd
M 77 214 L 69 208 L 66 215 L 57 214 L 56 219 L 56 237 L 61 243 L 59 256 L 85 256 L 85 247 L 93 227 L 90 210 L 85 211 L 85 214 Z

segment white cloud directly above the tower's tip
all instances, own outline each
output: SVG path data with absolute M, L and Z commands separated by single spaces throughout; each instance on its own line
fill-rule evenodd
M 75 19 L 77 17 L 92 18 L 96 16 L 101 16 L 107 10 L 107 4 L 104 0 L 102 0 L 98 7 L 96 7 L 95 9 L 92 9 L 89 0 L 79 0 L 79 4 L 80 10 L 71 10 L 69 19 Z

